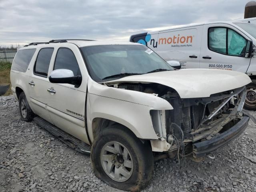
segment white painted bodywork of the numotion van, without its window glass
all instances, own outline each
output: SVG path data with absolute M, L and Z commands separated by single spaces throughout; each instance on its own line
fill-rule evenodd
M 255 51 L 252 58 L 246 58 L 220 54 L 208 48 L 208 29 L 213 27 L 232 29 L 243 36 L 246 40 L 251 40 L 255 47 L 256 39 L 248 32 L 234 24 L 234 22 L 248 21 L 256 24 L 256 18 L 250 18 L 231 22 L 206 22 L 202 24 L 174 27 L 167 30 L 147 32 L 145 34 L 151 35 L 151 39 L 147 41 L 147 46 L 166 61 L 179 61 L 181 68 L 184 69 L 212 68 L 235 70 L 252 76 L 256 75 Z M 133 39 L 135 37 L 137 38 L 135 42 L 138 42 L 140 35 L 142 34 L 132 35 L 130 41 L 134 42 Z M 177 39 L 178 37 L 179 40 Z M 144 37 L 141 36 L 141 38 L 143 39 Z M 158 42 L 157 46 L 156 42 Z M 204 56 L 209 56 L 211 59 L 203 58 Z

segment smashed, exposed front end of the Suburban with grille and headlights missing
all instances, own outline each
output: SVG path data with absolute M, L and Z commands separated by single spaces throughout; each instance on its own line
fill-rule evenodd
M 175 92 L 161 97 L 174 108 L 165 112 L 169 151 L 182 146 L 185 154 L 203 157 L 226 146 L 248 126 L 250 118 L 242 113 L 245 86 L 208 98 L 181 99 Z

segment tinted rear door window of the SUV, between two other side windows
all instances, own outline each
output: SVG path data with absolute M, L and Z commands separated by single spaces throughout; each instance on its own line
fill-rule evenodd
M 47 77 L 53 50 L 54 48 L 42 48 L 39 51 L 34 66 L 35 75 Z

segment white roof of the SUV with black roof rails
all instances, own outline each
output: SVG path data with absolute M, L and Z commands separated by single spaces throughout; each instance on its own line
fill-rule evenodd
M 78 47 L 85 47 L 85 46 L 94 46 L 94 45 L 130 45 L 134 44 L 133 42 L 124 42 L 124 41 L 97 41 L 97 40 L 55 40 L 49 42 L 34 42 L 26 45 L 24 48 L 32 48 L 34 46 L 51 46 L 52 44 L 61 44 L 64 45 L 66 43 L 76 44 Z

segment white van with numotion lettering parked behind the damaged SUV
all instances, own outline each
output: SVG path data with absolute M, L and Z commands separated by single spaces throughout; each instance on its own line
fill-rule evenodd
M 245 107 L 255 110 L 256 24 L 253 22 L 256 18 L 193 24 L 135 34 L 130 41 L 148 46 L 167 62 L 179 61 L 181 68 L 225 69 L 248 74 L 252 83 L 247 86 Z

